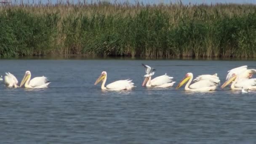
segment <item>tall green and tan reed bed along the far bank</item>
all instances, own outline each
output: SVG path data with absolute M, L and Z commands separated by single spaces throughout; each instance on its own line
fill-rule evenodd
M 0 58 L 47 55 L 256 58 L 256 5 L 2 5 Z

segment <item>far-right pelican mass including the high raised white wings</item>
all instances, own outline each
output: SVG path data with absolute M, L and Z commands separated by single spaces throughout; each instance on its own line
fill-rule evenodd
M 242 87 L 250 90 L 256 89 L 256 79 L 250 79 L 256 73 L 256 69 L 247 69 L 247 66 L 237 67 L 228 71 L 226 82 L 221 85 L 221 88 L 226 87 L 233 82 L 230 88 L 232 90 L 241 90 Z

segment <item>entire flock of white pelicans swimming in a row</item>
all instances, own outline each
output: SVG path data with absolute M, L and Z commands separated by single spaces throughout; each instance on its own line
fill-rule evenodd
M 176 83 L 173 81 L 173 77 L 168 76 L 166 73 L 152 79 L 156 69 L 146 64 L 142 64 L 142 66 L 144 66 L 146 72 L 142 82 L 143 87 L 169 88 L 173 87 Z M 220 88 L 224 89 L 230 84 L 231 90 L 239 90 L 242 93 L 246 93 L 248 90 L 256 90 L 256 78 L 252 78 L 253 74 L 256 74 L 256 69 L 248 69 L 246 65 L 230 69 L 227 71 L 226 80 Z M 6 72 L 4 77 L 1 75 L 0 80 L 3 80 L 5 86 L 9 88 L 48 88 L 48 85 L 51 83 L 44 76 L 31 79 L 30 71 L 25 72 L 20 84 L 18 79 L 10 72 Z M 107 72 L 105 71 L 101 72 L 94 85 L 100 82 L 102 82 L 101 89 L 108 91 L 127 91 L 136 87 L 131 79 L 117 80 L 105 86 L 107 82 Z M 221 81 L 217 73 L 213 75 L 199 75 L 193 79 L 193 73 L 188 72 L 184 79 L 176 86 L 176 90 L 185 83 L 187 83 L 184 87 L 185 91 L 215 91 Z

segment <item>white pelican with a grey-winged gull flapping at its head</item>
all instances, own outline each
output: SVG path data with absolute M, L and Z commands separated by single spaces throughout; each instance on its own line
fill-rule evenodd
M 142 65 L 146 68 L 146 75 L 144 75 L 145 79 L 142 83 L 142 86 L 146 85 L 147 87 L 168 88 L 172 87 L 175 83 L 172 80 L 173 77 L 169 77 L 166 73 L 165 75 L 155 77 L 153 80 L 151 80 L 152 75 L 155 74 L 155 72 L 153 72 L 155 69 L 145 64 Z

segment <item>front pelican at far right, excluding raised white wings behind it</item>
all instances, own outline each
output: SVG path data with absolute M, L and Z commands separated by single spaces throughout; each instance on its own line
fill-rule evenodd
M 243 75 L 243 74 L 242 74 Z M 249 90 L 256 90 L 256 78 L 249 79 L 248 77 L 239 78 L 235 73 L 221 85 L 221 88 L 225 88 L 229 83 L 231 83 L 230 88 L 232 90 L 242 90 L 242 88 L 248 88 Z

